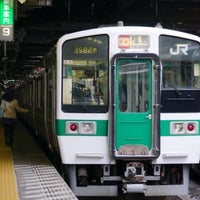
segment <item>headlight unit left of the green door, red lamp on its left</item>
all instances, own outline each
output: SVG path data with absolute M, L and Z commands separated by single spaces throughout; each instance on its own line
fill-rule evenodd
M 66 134 L 96 134 L 96 122 L 67 121 L 65 132 Z

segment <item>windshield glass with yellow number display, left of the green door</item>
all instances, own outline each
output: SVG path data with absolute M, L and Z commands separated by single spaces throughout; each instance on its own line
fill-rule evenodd
M 68 40 L 62 52 L 62 110 L 107 112 L 108 36 Z

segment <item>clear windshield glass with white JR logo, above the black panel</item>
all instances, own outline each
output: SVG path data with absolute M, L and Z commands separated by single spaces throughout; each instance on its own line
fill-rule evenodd
M 200 89 L 199 43 L 171 36 L 160 37 L 163 89 Z

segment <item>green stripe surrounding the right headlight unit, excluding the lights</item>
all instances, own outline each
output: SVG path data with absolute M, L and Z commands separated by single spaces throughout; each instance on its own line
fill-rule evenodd
M 161 120 L 160 122 L 160 135 L 161 136 L 197 136 L 199 134 L 199 127 L 198 127 L 198 134 L 170 134 L 170 123 L 171 122 L 198 122 L 198 120 Z

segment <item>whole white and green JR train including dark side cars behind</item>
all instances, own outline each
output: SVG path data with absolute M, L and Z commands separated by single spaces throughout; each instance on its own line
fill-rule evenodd
M 188 193 L 200 159 L 200 38 L 159 27 L 62 36 L 18 91 L 77 196 Z

